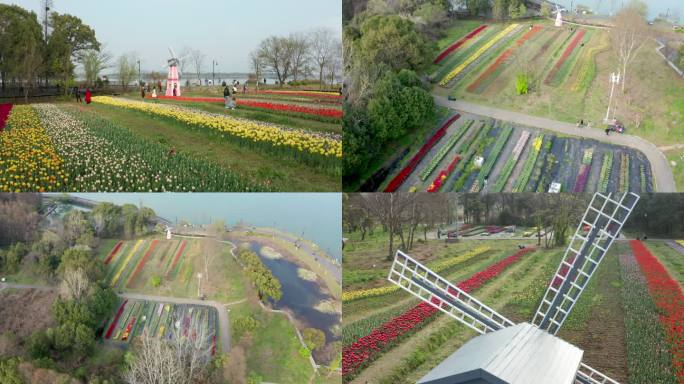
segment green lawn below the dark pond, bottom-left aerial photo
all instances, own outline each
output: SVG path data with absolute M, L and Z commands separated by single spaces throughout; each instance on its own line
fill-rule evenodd
M 238 339 L 235 321 L 252 316 L 258 328 Z M 309 359 L 299 354 L 301 344 L 294 326 L 279 313 L 266 312 L 257 303 L 245 302 L 230 307 L 233 344 L 245 344 L 247 374 L 259 375 L 262 381 L 272 383 L 307 383 L 313 374 Z

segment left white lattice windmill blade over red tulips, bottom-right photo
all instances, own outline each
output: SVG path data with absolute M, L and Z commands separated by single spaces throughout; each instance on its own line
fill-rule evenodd
M 387 279 L 481 334 L 514 325 L 404 252 L 397 251 Z

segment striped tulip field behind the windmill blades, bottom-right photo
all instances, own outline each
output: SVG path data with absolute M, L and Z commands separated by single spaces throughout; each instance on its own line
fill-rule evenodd
M 535 247 L 534 240 L 517 249 L 518 243 L 428 241 L 409 253 L 433 269 L 453 260 L 440 275 L 504 316 L 529 321 L 564 249 Z M 585 350 L 587 364 L 620 382 L 677 384 L 684 296 L 681 282 L 663 267 L 672 265 L 676 252 L 663 253 L 660 244 L 651 244 L 615 245 L 561 336 Z M 432 306 L 391 289 L 386 271 L 375 273 L 376 268 L 389 269 L 389 262 L 380 261 L 386 252 L 382 241 L 348 245 L 352 246 L 344 255 L 344 382 L 416 382 L 475 336 Z M 662 246 L 670 249 L 664 242 Z M 667 346 L 667 351 L 660 346 Z

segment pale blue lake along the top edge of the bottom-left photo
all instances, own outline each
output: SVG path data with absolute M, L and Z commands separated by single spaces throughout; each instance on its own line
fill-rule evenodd
M 313 241 L 328 254 L 342 257 L 342 195 L 339 193 L 74 193 L 115 204 L 143 204 L 176 222 L 207 224 L 223 219 L 280 230 Z

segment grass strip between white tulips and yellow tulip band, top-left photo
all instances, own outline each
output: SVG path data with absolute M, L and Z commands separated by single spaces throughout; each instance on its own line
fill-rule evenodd
M 66 110 L 77 108 L 74 104 L 60 106 Z M 292 159 L 261 154 L 233 142 L 221 140 L 220 134 L 206 129 L 102 104 L 91 104 L 84 111 L 114 121 L 140 139 L 159 142 L 169 148 L 176 148 L 179 152 L 201 156 L 221 167 L 245 175 L 245 178 L 271 180 L 273 186 L 279 190 L 340 189 L 340 179 L 334 171 L 314 169 Z

